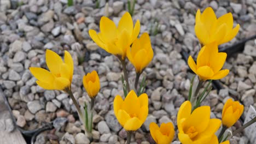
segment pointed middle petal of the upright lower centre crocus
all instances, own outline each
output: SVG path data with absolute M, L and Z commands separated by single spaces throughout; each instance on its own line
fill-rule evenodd
M 139 115 L 140 108 L 139 100 L 136 93 L 132 90 L 130 91 L 123 103 L 122 109 L 125 110 L 129 115 Z

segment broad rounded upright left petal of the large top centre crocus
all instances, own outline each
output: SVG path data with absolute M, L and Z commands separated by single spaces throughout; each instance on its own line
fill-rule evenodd
M 117 27 L 112 20 L 109 20 L 107 17 L 102 16 L 100 21 L 100 30 L 102 37 L 106 42 L 112 43 L 113 40 L 117 38 Z

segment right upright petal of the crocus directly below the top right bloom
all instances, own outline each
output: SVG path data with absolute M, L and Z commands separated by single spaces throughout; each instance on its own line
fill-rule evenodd
M 214 58 L 210 59 L 210 67 L 212 68 L 214 74 L 218 73 L 218 71 L 222 69 L 225 61 L 226 61 L 225 52 L 219 52 L 216 54 Z

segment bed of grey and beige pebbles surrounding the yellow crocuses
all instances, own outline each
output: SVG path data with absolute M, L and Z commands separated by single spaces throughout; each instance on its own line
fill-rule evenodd
M 67 7 L 67 0 L 0 1 L 0 88 L 22 129 L 33 130 L 53 123 L 55 129 L 40 133 L 37 144 L 89 143 L 68 95 L 40 88 L 28 70 L 29 67 L 46 68 L 46 49 L 61 56 L 64 50 L 71 53 L 74 61 L 72 91 L 79 104 L 84 105 L 84 101 L 89 100 L 82 82 L 84 74 L 96 70 L 100 76 L 92 143 L 125 143 L 126 132 L 113 112 L 115 95 L 123 95 L 121 65 L 117 57 L 93 43 L 88 31 L 98 31 L 100 18 L 106 13 L 118 23 L 127 10 L 127 0 L 109 0 L 108 10 L 106 0 L 99 2 L 96 8 L 96 2 L 92 0 L 75 0 L 72 7 Z M 206 7 L 212 7 L 218 17 L 231 12 L 234 25 L 240 23 L 237 36 L 220 47 L 231 46 L 256 34 L 255 0 L 137 0 L 133 20 L 141 21 L 141 33 L 150 34 L 154 58 L 143 72 L 147 78 L 149 115 L 143 127 L 132 137 L 132 143 L 154 143 L 149 134 L 151 122 L 172 122 L 177 129 L 177 112 L 187 99 L 193 77 L 181 52 L 185 51 L 194 58 L 197 56 L 200 44 L 194 33 L 195 13 Z M 211 117 L 222 117 L 223 105 L 230 97 L 245 105 L 243 117 L 249 105 L 256 107 L 254 40 L 247 41 L 243 51 L 233 55 L 228 53 L 228 56 L 224 68 L 230 69 L 230 73 L 219 81 L 223 88 L 214 89 L 203 103 L 211 106 Z M 136 74 L 131 63 L 127 69 L 133 83 Z M 238 121 L 232 129 L 241 125 L 242 122 Z M 9 130 L 13 128 L 10 126 Z M 174 140 L 178 140 L 177 134 Z M 249 142 L 241 133 L 232 137 L 230 143 Z

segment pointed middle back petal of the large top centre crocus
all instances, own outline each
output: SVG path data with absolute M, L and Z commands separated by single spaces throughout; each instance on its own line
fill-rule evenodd
M 129 38 L 132 36 L 132 31 L 133 31 L 133 22 L 132 22 L 132 17 L 130 13 L 126 12 L 120 19 L 118 23 L 118 31 L 127 31 L 127 34 L 129 35 Z M 127 41 L 127 40 L 126 40 Z

